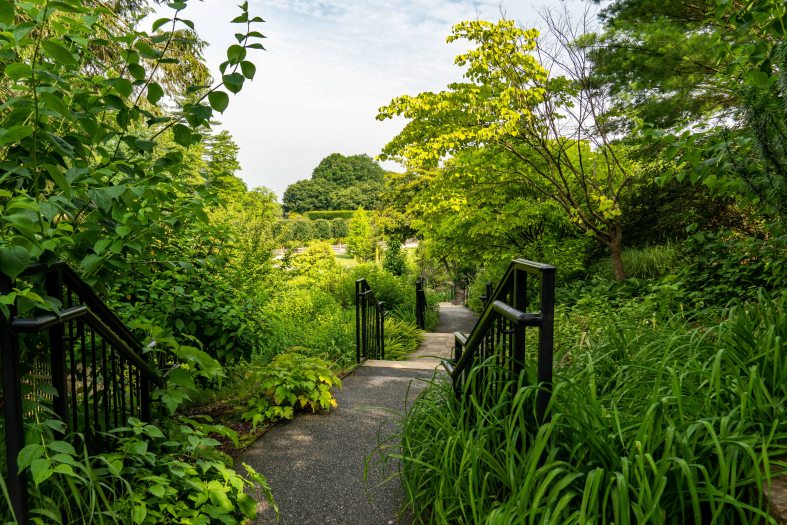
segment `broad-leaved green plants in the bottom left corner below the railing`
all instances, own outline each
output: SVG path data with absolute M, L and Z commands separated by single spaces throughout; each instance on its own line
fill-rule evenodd
M 211 437 L 228 436 L 237 444 L 237 436 L 209 420 L 178 418 L 157 427 L 132 417 L 108 436 L 111 451 L 96 455 L 84 445 L 75 448 L 78 437 L 55 439 L 60 421 L 41 423 L 19 454 L 37 522 L 240 524 L 255 518 L 258 490 L 278 513 L 264 476 L 245 464 L 244 474 L 237 472 Z M 10 518 L 5 509 L 3 522 Z

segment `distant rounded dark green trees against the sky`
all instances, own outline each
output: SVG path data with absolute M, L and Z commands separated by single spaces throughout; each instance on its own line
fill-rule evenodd
M 375 209 L 383 190 L 385 172 L 367 155 L 345 157 L 332 153 L 314 168 L 311 179 L 295 182 L 282 197 L 286 211 Z M 341 216 L 333 215 L 322 218 Z M 316 218 L 316 217 L 313 217 Z

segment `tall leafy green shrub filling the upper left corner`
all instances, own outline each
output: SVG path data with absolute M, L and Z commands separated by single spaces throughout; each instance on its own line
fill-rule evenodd
M 0 271 L 12 278 L 66 259 L 95 283 L 150 263 L 205 215 L 190 151 L 254 77 L 263 20 L 240 6 L 214 81 L 187 2 L 147 30 L 144 2 L 113 4 L 0 0 Z

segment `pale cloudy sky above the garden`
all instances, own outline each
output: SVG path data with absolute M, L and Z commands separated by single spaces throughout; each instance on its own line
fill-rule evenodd
M 497 20 L 502 10 L 534 27 L 540 9 L 566 2 L 584 7 L 580 0 L 251 0 L 251 14 L 266 21 L 259 30 L 267 50 L 251 54 L 257 75 L 221 117 L 240 146 L 238 175 L 281 196 L 330 153 L 376 156 L 403 125 L 377 121 L 380 106 L 461 78 L 453 59 L 463 48 L 445 42 L 453 24 Z M 229 21 L 237 3 L 189 2 L 185 11 L 209 43 L 216 78 L 235 41 L 238 26 Z

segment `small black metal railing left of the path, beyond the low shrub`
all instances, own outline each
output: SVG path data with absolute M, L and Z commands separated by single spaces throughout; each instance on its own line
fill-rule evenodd
M 385 305 L 374 296 L 366 279 L 355 281 L 355 355 L 385 359 Z

